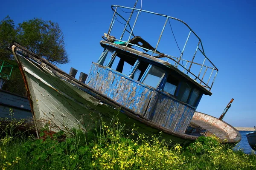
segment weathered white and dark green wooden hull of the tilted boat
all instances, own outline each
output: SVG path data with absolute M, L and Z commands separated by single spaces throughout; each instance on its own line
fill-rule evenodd
M 130 129 L 135 124 L 139 133 L 148 136 L 162 132 L 162 138 L 173 143 L 186 145 L 198 138 L 146 119 L 17 43 L 10 48 L 23 75 L 37 128 L 47 125 L 53 131 L 75 128 L 87 132 L 101 121 L 109 123 L 114 118 Z M 227 139 L 226 142 L 239 141 Z

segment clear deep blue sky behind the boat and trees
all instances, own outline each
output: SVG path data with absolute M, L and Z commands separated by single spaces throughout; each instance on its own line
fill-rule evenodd
M 111 5 L 132 7 L 134 2 L 4 0 L 0 20 L 9 15 L 15 24 L 34 17 L 59 23 L 70 56 L 70 63 L 61 65 L 61 69 L 69 72 L 70 67 L 74 67 L 88 73 L 91 62 L 96 62 L 102 53 L 99 41 L 108 31 L 113 15 Z M 140 1 L 137 7 L 140 8 Z M 256 1 L 143 0 L 142 8 L 177 17 L 189 24 L 201 38 L 205 53 L 219 69 L 212 96 L 204 96 L 197 111 L 219 117 L 234 98 L 224 121 L 233 126 L 256 125 Z M 137 29 L 143 29 L 145 34 L 158 25 L 153 20 L 143 24 L 144 27 Z M 173 29 L 178 37 L 179 29 L 175 25 Z

